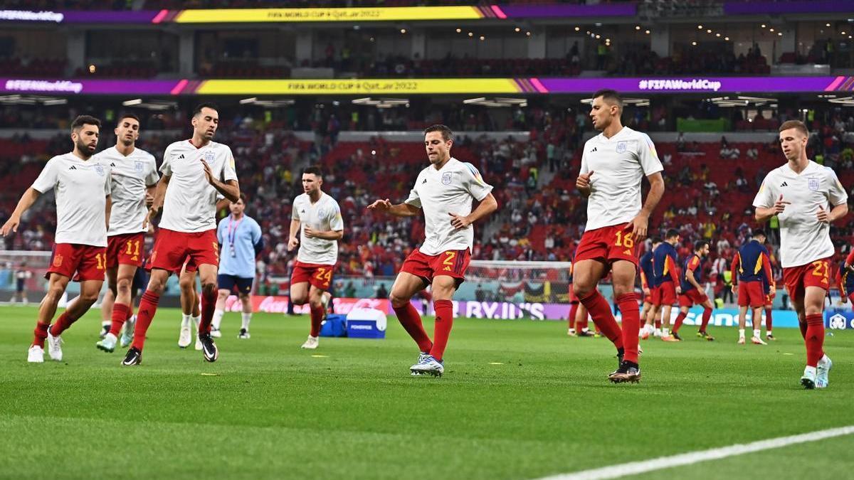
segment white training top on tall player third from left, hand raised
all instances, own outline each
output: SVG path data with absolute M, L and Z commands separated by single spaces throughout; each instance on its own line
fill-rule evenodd
M 216 228 L 218 191 L 205 178 L 202 161 L 220 181 L 237 180 L 234 155 L 222 143 L 210 142 L 201 149 L 190 140 L 170 144 L 163 154 L 161 173 L 169 175 L 163 202 L 161 228 L 172 231 L 206 231 Z

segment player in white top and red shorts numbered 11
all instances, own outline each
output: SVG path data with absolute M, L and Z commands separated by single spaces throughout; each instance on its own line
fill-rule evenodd
M 137 268 L 143 266 L 148 231 L 143 224 L 160 180 L 154 155 L 136 147 L 139 118 L 120 115 L 114 132 L 115 146 L 92 157 L 109 167 L 113 198 L 107 232 L 107 286 L 114 302 L 109 331 L 95 344 L 104 352 L 115 350 L 122 325 L 133 315 L 131 287 Z

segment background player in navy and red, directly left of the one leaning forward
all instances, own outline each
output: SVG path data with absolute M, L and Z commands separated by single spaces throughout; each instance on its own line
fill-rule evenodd
M 676 260 L 676 245 L 679 244 L 679 231 L 670 229 L 664 236 L 664 242 L 652 252 L 652 318 L 661 313 L 661 339 L 664 342 L 681 342 L 679 334 L 670 333 L 670 312 L 676 303 L 677 295 L 681 294 L 681 285 L 676 284 L 680 278 L 679 264 Z

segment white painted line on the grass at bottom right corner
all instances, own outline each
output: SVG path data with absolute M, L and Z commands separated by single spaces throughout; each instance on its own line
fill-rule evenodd
M 564 473 L 543 477 L 541 480 L 600 480 L 604 478 L 619 478 L 628 475 L 638 475 L 647 471 L 663 470 L 681 465 L 693 465 L 707 460 L 719 460 L 736 455 L 751 454 L 772 448 L 782 448 L 798 443 L 817 442 L 834 436 L 845 436 L 854 434 L 854 425 L 839 427 L 829 430 L 818 430 L 810 433 L 793 436 L 780 436 L 768 440 L 760 440 L 752 443 L 736 443 L 728 447 L 711 448 L 698 452 L 688 452 L 670 457 L 658 457 L 658 459 L 629 462 L 620 465 L 594 468 L 593 470 L 576 471 L 575 473 Z

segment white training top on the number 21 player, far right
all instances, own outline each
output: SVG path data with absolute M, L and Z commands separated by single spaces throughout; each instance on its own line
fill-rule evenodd
M 780 220 L 780 263 L 784 268 L 806 265 L 823 260 L 835 253 L 830 241 L 830 225 L 818 221 L 818 208 L 829 210 L 848 201 L 848 194 L 836 178 L 836 173 L 815 161 L 801 173 L 794 173 L 788 163 L 777 167 L 759 187 L 753 206 L 774 207 L 783 196 L 787 205 Z

